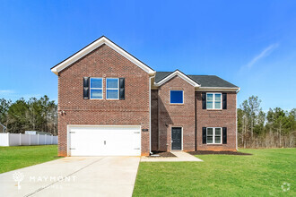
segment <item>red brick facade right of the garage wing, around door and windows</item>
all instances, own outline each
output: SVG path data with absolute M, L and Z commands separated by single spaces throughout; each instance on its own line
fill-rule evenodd
M 170 90 L 183 90 L 184 104 L 170 104 Z M 202 91 L 178 76 L 152 90 L 152 150 L 171 150 L 171 127 L 182 127 L 185 151 L 236 150 L 237 95 L 226 93 L 227 109 L 213 110 L 203 109 Z M 226 127 L 227 143 L 203 144 L 203 127 Z

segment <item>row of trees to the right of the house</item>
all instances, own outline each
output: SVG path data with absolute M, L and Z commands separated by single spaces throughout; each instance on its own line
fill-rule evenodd
M 238 108 L 238 142 L 243 148 L 295 147 L 296 108 L 280 107 L 264 112 L 261 100 L 252 96 Z

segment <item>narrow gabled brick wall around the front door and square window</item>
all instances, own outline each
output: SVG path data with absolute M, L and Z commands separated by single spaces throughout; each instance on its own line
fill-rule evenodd
M 170 104 L 170 90 L 183 90 L 184 104 Z M 158 90 L 161 151 L 171 150 L 171 127 L 183 128 L 183 150 L 195 150 L 195 88 L 176 76 Z

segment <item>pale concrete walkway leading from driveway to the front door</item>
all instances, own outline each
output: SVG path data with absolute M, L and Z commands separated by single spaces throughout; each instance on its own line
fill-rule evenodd
M 174 155 L 177 157 L 171 157 L 171 158 L 161 158 L 161 157 L 142 157 L 141 162 L 159 162 L 159 161 L 203 161 L 200 158 L 196 158 L 193 155 L 188 154 L 184 151 L 172 151 Z

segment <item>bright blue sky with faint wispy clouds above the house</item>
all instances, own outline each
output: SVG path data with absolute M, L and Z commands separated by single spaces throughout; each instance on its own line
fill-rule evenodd
M 296 107 L 296 1 L 1 1 L 0 98 L 57 99 L 50 67 L 101 35 L 156 71 L 215 74 Z

